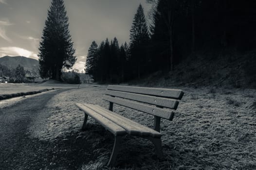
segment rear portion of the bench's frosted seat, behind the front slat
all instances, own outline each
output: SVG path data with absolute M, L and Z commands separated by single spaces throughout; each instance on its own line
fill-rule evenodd
M 94 110 L 95 112 L 101 114 L 105 118 L 110 119 L 111 121 L 115 122 L 119 126 L 126 129 L 129 135 L 161 137 L 161 133 L 151 128 L 148 128 L 140 123 L 137 123 L 131 119 L 118 115 L 99 105 L 93 105 L 93 104 L 85 104 L 85 105 L 90 109 Z

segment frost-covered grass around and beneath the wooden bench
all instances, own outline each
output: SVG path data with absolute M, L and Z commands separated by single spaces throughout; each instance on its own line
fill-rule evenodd
M 156 159 L 154 147 L 146 139 L 124 136 L 117 169 L 255 170 L 256 90 L 179 88 L 185 95 L 176 115 L 173 121 L 162 120 L 161 124 L 165 159 Z M 102 100 L 105 89 L 105 85 L 91 85 L 56 95 L 47 107 L 52 116 L 38 119 L 30 129 L 31 137 L 66 142 L 69 150 L 56 146 L 57 150 L 77 159 L 83 170 L 111 169 L 105 165 L 114 142 L 112 134 L 93 119 L 82 132 L 84 114 L 74 105 L 87 102 L 108 108 L 108 102 Z M 115 104 L 114 111 L 153 125 L 150 115 Z

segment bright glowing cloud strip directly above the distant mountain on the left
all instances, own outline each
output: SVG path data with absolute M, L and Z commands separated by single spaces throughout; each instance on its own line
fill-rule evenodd
M 24 56 L 38 60 L 38 56 L 33 51 L 28 51 L 19 47 L 0 47 L 0 56 Z

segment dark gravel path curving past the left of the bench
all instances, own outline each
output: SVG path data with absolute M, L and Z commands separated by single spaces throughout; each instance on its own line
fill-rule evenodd
M 79 157 L 77 150 L 83 152 L 86 145 L 74 143 L 75 136 L 43 141 L 28 133 L 34 121 L 51 116 L 47 102 L 66 90 L 38 95 L 0 109 L 0 170 L 73 170 L 78 168 L 79 161 L 88 161 Z

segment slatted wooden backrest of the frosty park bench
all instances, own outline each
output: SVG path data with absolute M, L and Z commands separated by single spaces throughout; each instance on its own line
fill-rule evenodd
M 183 91 L 166 88 L 109 85 L 104 100 L 123 105 L 153 116 L 172 120 Z

